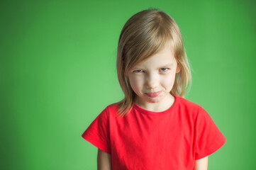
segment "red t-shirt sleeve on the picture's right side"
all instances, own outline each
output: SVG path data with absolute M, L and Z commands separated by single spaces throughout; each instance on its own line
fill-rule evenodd
M 196 120 L 196 154 L 201 159 L 213 154 L 226 142 L 226 137 L 213 122 L 211 116 L 200 106 Z

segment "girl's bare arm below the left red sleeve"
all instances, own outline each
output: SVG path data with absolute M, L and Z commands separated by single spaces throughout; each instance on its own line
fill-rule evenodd
M 112 170 L 111 154 L 98 148 L 97 164 L 98 170 Z

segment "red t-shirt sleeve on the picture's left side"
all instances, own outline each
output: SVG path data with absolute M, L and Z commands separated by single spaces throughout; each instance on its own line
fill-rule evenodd
M 111 154 L 110 133 L 107 108 L 84 131 L 82 137 L 95 147 Z

